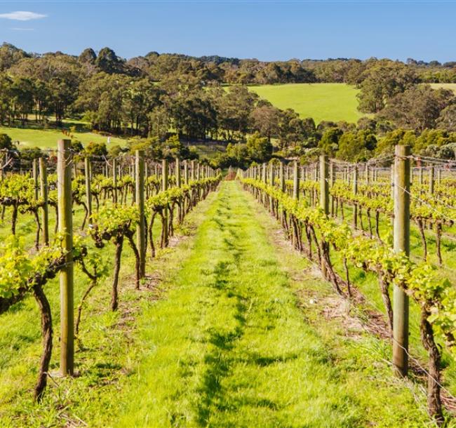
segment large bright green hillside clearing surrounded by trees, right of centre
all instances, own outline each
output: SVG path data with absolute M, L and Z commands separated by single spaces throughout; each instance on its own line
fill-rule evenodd
M 289 83 L 286 85 L 249 86 L 280 109 L 291 108 L 302 118 L 321 121 L 356 122 L 363 116 L 358 112 L 356 88 L 345 83 Z

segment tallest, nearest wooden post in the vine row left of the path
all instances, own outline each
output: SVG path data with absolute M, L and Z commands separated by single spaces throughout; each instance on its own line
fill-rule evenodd
M 65 267 L 60 270 L 60 374 L 74 373 L 74 272 L 71 140 L 59 140 L 57 158 L 58 229 Z

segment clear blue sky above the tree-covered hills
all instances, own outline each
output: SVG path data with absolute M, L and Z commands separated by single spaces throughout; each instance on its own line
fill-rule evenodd
M 18 14 L 18 11 L 27 12 Z M 0 1 L 0 42 L 260 60 L 456 60 L 452 1 Z

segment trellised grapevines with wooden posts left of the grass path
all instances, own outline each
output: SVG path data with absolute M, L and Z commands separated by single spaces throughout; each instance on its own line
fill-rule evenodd
M 48 175 L 46 160 L 39 159 L 39 163 L 32 163 L 28 173 L 21 170 L 18 174 L 2 168 L 0 180 L 2 220 L 6 209 L 11 208 L 11 236 L 0 246 L 0 312 L 27 293 L 34 295 L 39 306 L 43 351 L 34 388 L 38 400 L 46 388 L 53 346 L 51 305 L 45 293 L 46 283 L 59 275 L 60 374 L 73 375 L 74 340 L 79 337 L 83 304 L 100 278 L 108 274 L 107 266 L 96 249 L 108 242 L 115 246 L 110 307 L 116 310 L 124 241 L 128 242 L 135 255 L 135 287 L 140 288 L 140 281 L 146 274 L 148 246 L 151 248 L 150 257 L 156 256 L 154 220 L 157 216 L 161 219 L 159 246 L 164 248 L 174 234 L 175 221 L 182 222 L 185 215 L 217 187 L 221 178 L 219 171 L 208 166 L 201 166 L 196 161 L 191 161 L 189 165 L 183 161 L 182 182 L 182 163 L 179 159 L 173 163 L 168 163 L 166 159 L 157 163 L 146 159 L 142 151 L 127 159 L 112 159 L 111 162 L 101 159 L 97 165 L 95 156 L 84 159 L 72 152 L 70 144 L 70 140 L 58 142 L 56 174 Z M 13 164 L 11 159 L 8 166 Z M 76 168 L 80 163 L 83 163 L 82 176 L 78 175 Z M 102 174 L 94 176 L 94 167 Z M 154 175 L 148 175 L 152 169 Z M 75 233 L 73 227 L 74 203 L 82 206 L 85 213 L 81 233 Z M 53 239 L 49 234 L 48 206 L 55 208 Z M 27 213 L 32 213 L 36 223 L 34 253 L 15 236 L 18 215 Z M 89 286 L 77 307 L 76 321 L 74 264 L 89 279 Z

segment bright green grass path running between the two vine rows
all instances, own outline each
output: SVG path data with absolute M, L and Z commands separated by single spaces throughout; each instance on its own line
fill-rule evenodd
M 166 298 L 140 316 L 143 352 L 112 423 L 426 426 L 413 392 L 373 352 L 381 342 L 358 335 L 347 345 L 340 321 L 316 328 L 319 309 L 303 314 L 272 220 L 254 204 L 239 183 L 222 184 Z M 314 276 L 303 280 L 328 293 Z

